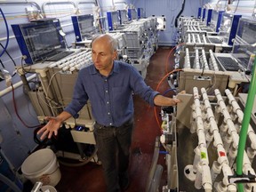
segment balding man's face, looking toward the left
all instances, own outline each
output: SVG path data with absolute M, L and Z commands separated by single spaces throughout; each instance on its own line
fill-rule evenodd
M 116 52 L 112 52 L 111 44 L 108 38 L 100 37 L 95 39 L 92 44 L 92 61 L 100 72 L 110 72 L 113 66 L 113 61 L 116 59 Z

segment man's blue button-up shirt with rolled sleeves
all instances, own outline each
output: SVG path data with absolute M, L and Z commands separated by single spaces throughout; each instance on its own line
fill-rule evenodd
M 94 65 L 90 65 L 79 71 L 73 99 L 65 111 L 76 116 L 90 100 L 92 116 L 99 124 L 121 126 L 133 117 L 132 93 L 140 95 L 151 106 L 159 94 L 145 84 L 136 68 L 127 63 L 115 60 L 109 76 L 100 75 Z

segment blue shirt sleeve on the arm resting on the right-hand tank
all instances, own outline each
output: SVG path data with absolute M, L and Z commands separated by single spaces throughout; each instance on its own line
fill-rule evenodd
M 154 99 L 159 92 L 154 91 L 150 86 L 148 86 L 140 73 L 136 68 L 131 69 L 130 82 L 132 86 L 132 91 L 134 94 L 140 95 L 140 97 L 147 101 L 150 106 L 154 106 Z

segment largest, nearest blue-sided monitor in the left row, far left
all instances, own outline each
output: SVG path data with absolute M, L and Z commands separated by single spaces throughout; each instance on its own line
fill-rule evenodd
M 66 49 L 63 36 L 60 36 L 59 20 L 41 20 L 12 25 L 20 52 L 27 58 L 27 64 L 49 58 L 59 49 Z

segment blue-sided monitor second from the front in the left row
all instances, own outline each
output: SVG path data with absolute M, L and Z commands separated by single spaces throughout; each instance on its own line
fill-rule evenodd
M 92 14 L 72 16 L 73 27 L 76 35 L 76 41 L 91 40 L 92 35 L 97 33 L 94 26 L 94 18 Z

